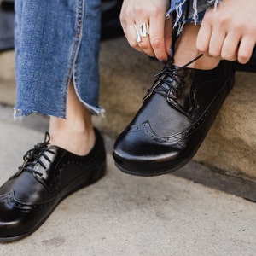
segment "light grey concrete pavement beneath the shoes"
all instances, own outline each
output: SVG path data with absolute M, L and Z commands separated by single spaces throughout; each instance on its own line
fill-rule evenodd
M 14 121 L 12 112 L 0 106 L 0 183 L 48 127 L 45 117 Z M 123 174 L 111 157 L 113 138 L 104 137 L 106 176 L 62 201 L 32 236 L 0 244 L 0 255 L 256 255 L 254 202 L 172 174 Z

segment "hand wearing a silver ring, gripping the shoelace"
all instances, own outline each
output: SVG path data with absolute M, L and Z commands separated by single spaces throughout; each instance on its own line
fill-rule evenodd
M 172 19 L 166 19 L 169 8 L 170 0 L 124 0 L 120 21 L 131 47 L 160 61 L 167 60 L 172 44 Z M 149 35 L 137 42 L 143 23 L 148 24 Z

